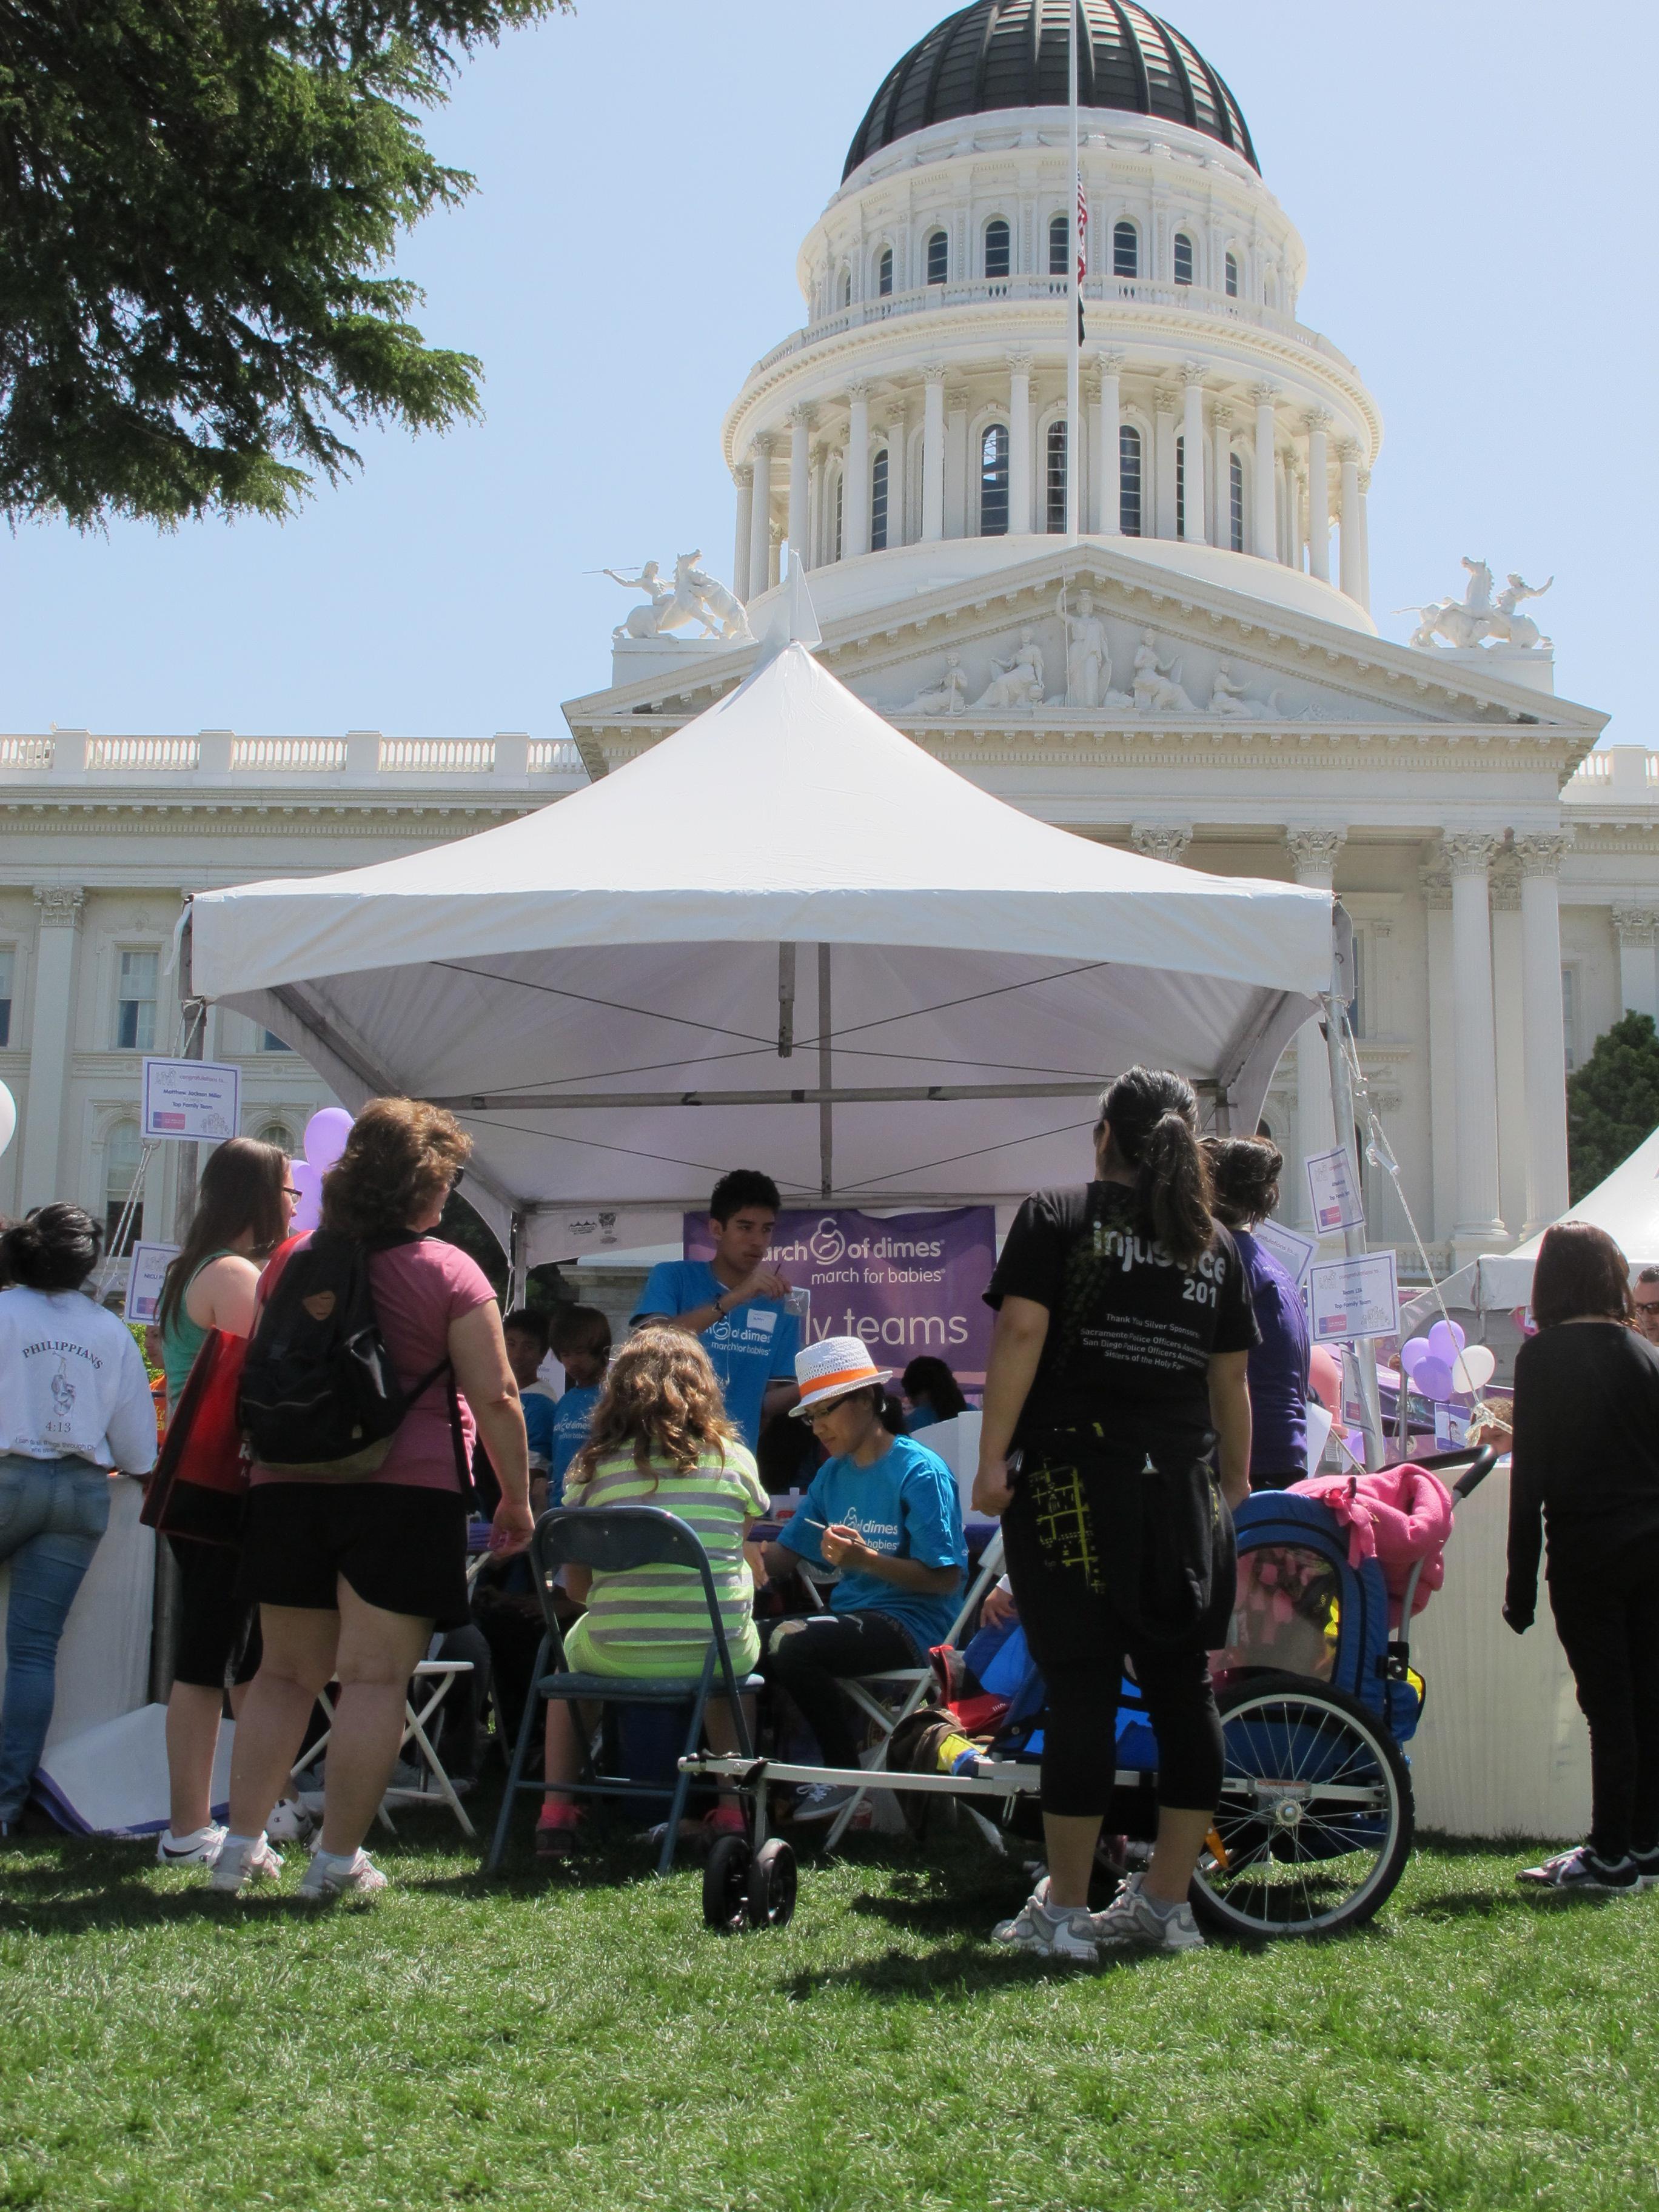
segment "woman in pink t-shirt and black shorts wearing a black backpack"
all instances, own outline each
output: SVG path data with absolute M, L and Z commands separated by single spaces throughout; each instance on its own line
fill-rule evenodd
M 476 1261 L 431 1234 L 469 1152 L 471 1139 L 442 1108 L 369 1099 L 323 1179 L 319 1237 L 367 1254 L 380 1336 L 400 1391 L 416 1396 L 372 1471 L 341 1480 L 254 1462 L 243 1588 L 259 1601 L 265 1650 L 237 1723 L 215 1889 L 281 1871 L 265 1818 L 330 1681 L 341 1690 L 323 1847 L 301 1896 L 385 1887 L 361 1845 L 403 1743 L 409 1674 L 434 1628 L 467 1619 L 465 1469 L 476 1433 L 502 1484 L 493 1542 L 502 1551 L 529 1542 L 524 1413 L 495 1294 Z M 261 1301 L 307 1243 L 283 1248 L 261 1279 Z

